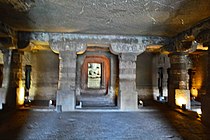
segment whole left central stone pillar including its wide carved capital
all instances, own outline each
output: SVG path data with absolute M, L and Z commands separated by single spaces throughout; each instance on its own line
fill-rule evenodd
M 59 54 L 59 81 L 56 97 L 57 111 L 73 111 L 76 106 L 77 53 L 84 53 L 86 44 L 69 40 L 51 40 L 50 48 Z

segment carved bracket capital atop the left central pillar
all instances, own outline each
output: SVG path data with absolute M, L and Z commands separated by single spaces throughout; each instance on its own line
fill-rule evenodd
M 78 42 L 71 42 L 71 41 L 56 41 L 52 40 L 50 41 L 50 48 L 55 53 L 59 53 L 60 51 L 71 51 L 76 53 L 84 53 L 87 45 L 84 43 L 78 43 Z

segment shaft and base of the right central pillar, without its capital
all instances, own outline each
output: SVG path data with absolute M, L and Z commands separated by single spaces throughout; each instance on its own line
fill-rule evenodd
M 138 109 L 136 59 L 136 54 L 119 55 L 119 106 L 121 110 Z

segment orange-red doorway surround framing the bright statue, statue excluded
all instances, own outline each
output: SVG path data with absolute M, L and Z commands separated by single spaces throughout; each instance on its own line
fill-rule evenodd
M 88 88 L 88 64 L 101 64 L 101 86 L 100 88 Z M 81 92 L 82 93 L 97 93 L 107 94 L 110 81 L 110 60 L 104 55 L 89 55 L 86 56 L 81 70 Z M 101 92 L 100 92 L 101 91 Z

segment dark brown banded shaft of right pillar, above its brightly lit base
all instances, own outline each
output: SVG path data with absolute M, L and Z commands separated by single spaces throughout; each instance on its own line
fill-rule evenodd
M 171 69 L 170 69 L 170 80 L 169 80 L 169 95 L 168 103 L 171 106 L 175 106 L 175 90 L 187 90 L 188 89 L 188 58 L 187 53 L 176 52 L 169 55 Z

